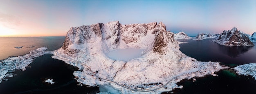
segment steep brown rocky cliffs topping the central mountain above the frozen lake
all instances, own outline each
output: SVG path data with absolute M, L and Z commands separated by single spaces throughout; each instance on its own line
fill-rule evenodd
M 146 38 L 147 35 L 149 37 Z M 72 53 L 76 51 L 76 48 L 72 48 L 74 46 L 79 45 L 79 47 L 87 48 L 86 44 L 95 42 L 110 50 L 152 46 L 153 52 L 159 54 L 164 54 L 167 51 L 166 46 L 170 43 L 177 47 L 173 33 L 166 32 L 166 26 L 162 22 L 159 24 L 153 22 L 121 25 L 119 21 L 112 21 L 106 24 L 96 23 L 90 26 L 70 28 L 62 49 L 65 50 L 65 53 Z

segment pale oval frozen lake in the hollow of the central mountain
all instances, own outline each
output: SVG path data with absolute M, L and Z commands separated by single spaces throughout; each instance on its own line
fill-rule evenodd
M 142 51 L 143 49 L 136 48 L 116 49 L 108 52 L 106 55 L 113 60 L 128 61 L 141 56 Z

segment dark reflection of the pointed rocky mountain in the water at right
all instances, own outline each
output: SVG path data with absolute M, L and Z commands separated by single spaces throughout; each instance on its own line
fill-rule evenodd
M 240 54 L 244 54 L 246 53 L 247 51 L 249 51 L 250 49 L 252 49 L 252 46 L 223 46 L 223 45 L 220 45 L 219 47 L 219 50 L 230 56 L 231 58 L 236 58 L 238 56 L 240 56 Z

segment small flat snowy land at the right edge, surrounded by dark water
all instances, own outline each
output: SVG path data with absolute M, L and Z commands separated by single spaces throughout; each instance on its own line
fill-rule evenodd
M 234 68 L 239 75 L 252 75 L 256 80 L 256 63 L 243 64 Z

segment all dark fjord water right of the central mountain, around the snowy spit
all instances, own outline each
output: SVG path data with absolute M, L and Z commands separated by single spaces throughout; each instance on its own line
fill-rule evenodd
M 255 46 L 222 46 L 212 40 L 179 40 L 188 42 L 180 44 L 180 51 L 198 61 L 217 61 L 231 67 L 256 63 Z M 192 79 L 182 80 L 177 84 L 184 87 L 173 90 L 174 93 L 171 94 L 256 94 L 256 80 L 251 76 L 238 75 L 231 69 L 222 70 L 216 74 L 218 75 L 216 77 L 212 75 L 196 77 L 195 82 Z

